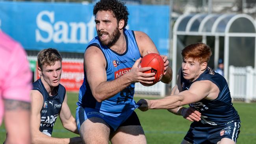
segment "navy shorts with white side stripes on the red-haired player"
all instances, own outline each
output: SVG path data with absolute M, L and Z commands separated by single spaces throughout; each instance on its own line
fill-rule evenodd
M 210 126 L 201 122 L 190 125 L 184 140 L 193 144 L 216 144 L 222 138 L 229 138 L 236 142 L 240 133 L 240 122 L 231 122 L 220 126 Z

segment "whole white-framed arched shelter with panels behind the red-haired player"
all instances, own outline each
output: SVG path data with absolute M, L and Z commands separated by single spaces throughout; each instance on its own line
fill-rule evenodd
M 246 14 L 182 15 L 176 20 L 173 28 L 172 87 L 176 84 L 177 71 L 182 63 L 181 50 L 185 46 L 185 42 L 180 42 L 179 37 L 194 36 L 197 39 L 192 40 L 192 43 L 201 41 L 208 44 L 208 42 L 214 41 L 212 42 L 214 46 L 211 47 L 214 48 L 212 49 L 214 68 L 217 68 L 220 53 L 224 54 L 224 77 L 227 80 L 229 65 L 254 66 L 256 68 L 256 24 L 254 18 Z M 200 37 L 199 40 L 198 37 Z M 210 41 L 207 41 L 207 37 L 211 37 Z M 220 43 L 220 39 L 224 41 Z M 178 48 L 178 44 L 182 46 Z M 220 51 L 220 47 L 223 47 L 222 51 Z

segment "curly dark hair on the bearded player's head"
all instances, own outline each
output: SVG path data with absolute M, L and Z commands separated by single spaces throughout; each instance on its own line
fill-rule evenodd
M 117 18 L 117 23 L 123 19 L 124 28 L 127 25 L 129 12 L 123 2 L 118 0 L 100 0 L 93 8 L 93 15 L 96 15 L 98 11 L 111 11 L 113 16 Z

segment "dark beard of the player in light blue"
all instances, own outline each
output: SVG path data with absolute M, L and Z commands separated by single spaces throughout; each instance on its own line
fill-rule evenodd
M 119 39 L 120 35 L 121 35 L 121 32 L 119 31 L 119 28 L 117 27 L 113 34 L 112 35 L 109 35 L 109 41 L 101 41 L 100 39 L 100 32 L 97 31 L 97 34 L 98 34 L 98 37 L 99 37 L 99 40 L 100 42 L 103 44 L 103 45 L 106 45 L 106 46 L 113 46 L 117 40 Z M 109 34 L 109 33 L 108 33 Z

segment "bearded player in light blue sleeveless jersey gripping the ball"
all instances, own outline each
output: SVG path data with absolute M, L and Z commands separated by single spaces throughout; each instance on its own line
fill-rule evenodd
M 117 0 L 96 3 L 96 36 L 84 54 L 85 78 L 79 91 L 76 121 L 80 136 L 88 144 L 145 144 L 144 131 L 134 109 L 136 82 L 152 83 L 155 73 L 138 68 L 141 57 L 156 46 L 147 34 L 126 30 L 128 10 Z M 164 83 L 170 83 L 172 70 L 166 56 Z

